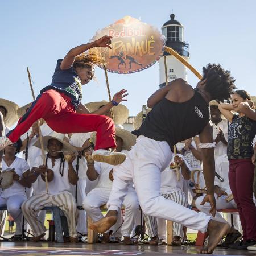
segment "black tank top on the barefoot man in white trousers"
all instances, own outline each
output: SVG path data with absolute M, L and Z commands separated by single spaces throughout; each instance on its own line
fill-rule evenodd
M 163 98 L 133 134 L 144 135 L 155 141 L 167 141 L 173 146 L 200 134 L 209 120 L 209 105 L 195 90 L 193 97 L 186 102 L 177 103 Z

